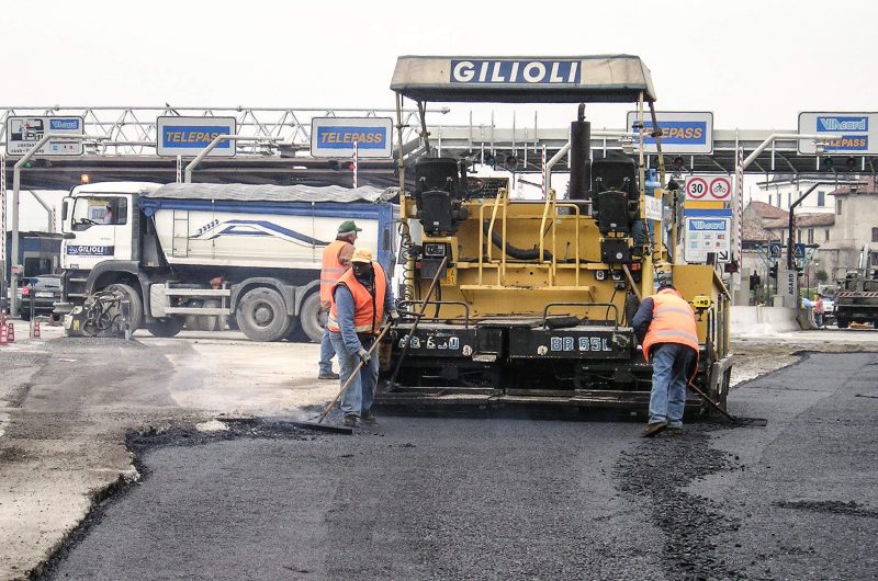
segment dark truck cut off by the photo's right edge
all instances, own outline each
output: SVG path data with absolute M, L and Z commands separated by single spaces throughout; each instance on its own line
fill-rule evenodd
M 857 270 L 845 274 L 835 290 L 835 322 L 846 329 L 852 322 L 878 329 L 878 248 L 864 244 Z

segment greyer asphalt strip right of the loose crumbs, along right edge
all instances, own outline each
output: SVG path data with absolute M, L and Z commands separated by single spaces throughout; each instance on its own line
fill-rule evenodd
M 878 433 L 875 352 L 809 352 L 799 365 L 747 383 L 739 409 L 773 421 L 714 434 L 742 469 L 690 489 L 740 521 L 721 539 L 727 562 L 754 579 L 875 579 Z M 734 394 L 734 391 L 733 391 Z

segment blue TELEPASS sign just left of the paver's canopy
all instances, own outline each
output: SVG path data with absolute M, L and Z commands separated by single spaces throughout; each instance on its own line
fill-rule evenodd
M 393 155 L 393 119 L 390 117 L 314 117 L 311 119 L 311 155 L 315 158 L 389 158 Z

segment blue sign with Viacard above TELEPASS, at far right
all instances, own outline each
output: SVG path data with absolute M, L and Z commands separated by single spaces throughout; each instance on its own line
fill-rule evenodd
M 799 133 L 840 136 L 826 144 L 826 153 L 878 153 L 878 113 L 799 113 Z M 813 139 L 799 139 L 799 153 L 815 155 Z

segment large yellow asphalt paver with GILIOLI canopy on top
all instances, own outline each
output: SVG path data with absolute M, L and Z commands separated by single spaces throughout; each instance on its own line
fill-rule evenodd
M 648 127 L 646 115 L 658 126 L 655 91 L 640 58 L 405 56 L 391 89 L 399 127 L 406 99 L 420 111 L 434 101 L 560 103 L 575 117 L 560 150 L 569 150 L 566 198 L 548 189 L 542 200 L 514 200 L 508 187 L 483 187 L 468 173 L 471 160 L 436 157 L 423 132 L 399 176 L 405 317 L 385 335 L 380 405 L 645 410 L 652 367 L 631 319 L 660 280 L 673 281 L 697 312 L 694 384 L 725 405 L 730 296 L 714 266 L 682 263 L 665 240 L 677 239 L 662 225 L 675 205 L 661 135 Z M 637 157 L 593 159 L 585 104 L 600 102 L 637 107 Z M 652 168 L 648 137 L 658 147 Z M 687 406 L 709 408 L 697 396 Z

